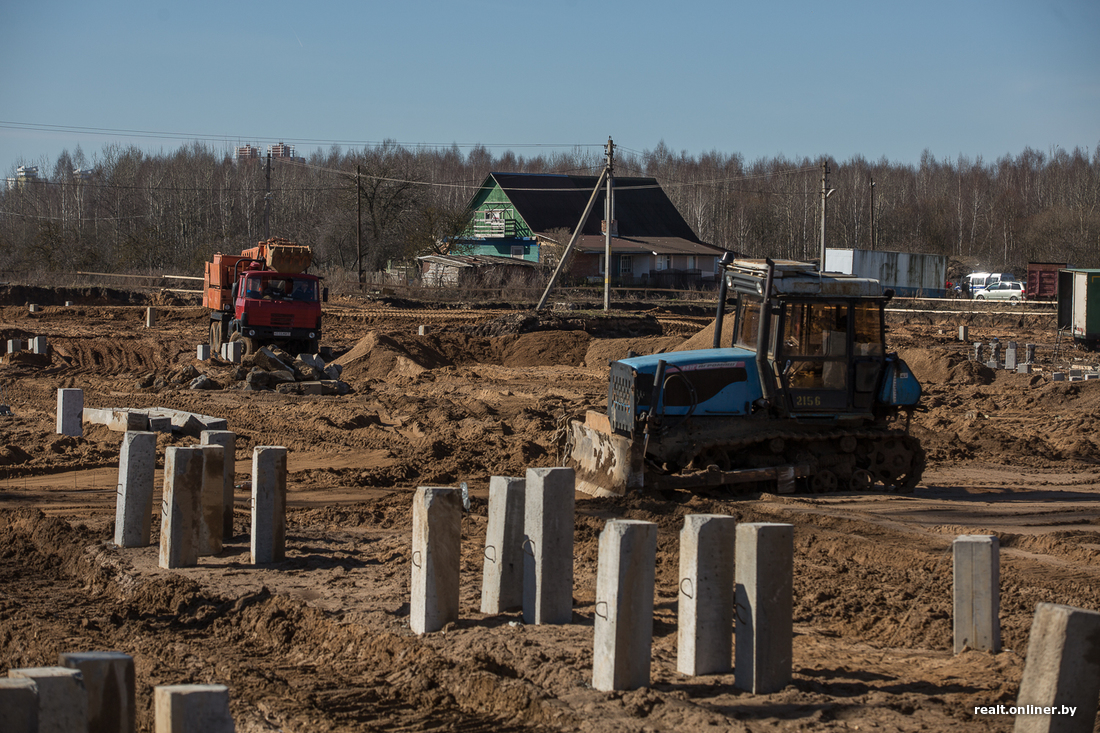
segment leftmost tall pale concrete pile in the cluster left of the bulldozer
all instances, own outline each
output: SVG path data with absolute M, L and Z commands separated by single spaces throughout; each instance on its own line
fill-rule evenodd
M 119 547 L 147 547 L 152 540 L 155 478 L 156 434 L 128 431 L 119 450 L 114 505 L 114 544 Z

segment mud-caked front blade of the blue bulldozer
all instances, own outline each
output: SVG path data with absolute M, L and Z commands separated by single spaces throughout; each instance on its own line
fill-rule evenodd
M 566 462 L 576 472 L 576 489 L 593 496 L 622 496 L 642 488 L 642 446 L 615 435 L 607 416 L 590 412 L 581 423 L 572 420 Z

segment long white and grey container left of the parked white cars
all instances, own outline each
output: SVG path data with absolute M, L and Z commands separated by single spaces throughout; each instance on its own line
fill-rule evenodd
M 883 250 L 825 250 L 825 271 L 872 277 L 900 296 L 947 295 L 947 258 Z

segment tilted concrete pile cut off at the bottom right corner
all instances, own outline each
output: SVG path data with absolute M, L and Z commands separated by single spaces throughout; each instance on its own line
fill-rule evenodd
M 1016 697 L 1016 708 L 1036 712 L 1018 714 L 1015 732 L 1091 733 L 1098 697 L 1100 613 L 1040 603 Z

